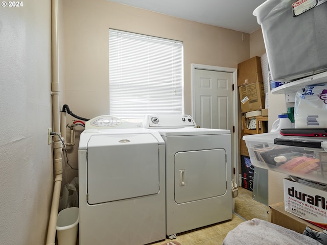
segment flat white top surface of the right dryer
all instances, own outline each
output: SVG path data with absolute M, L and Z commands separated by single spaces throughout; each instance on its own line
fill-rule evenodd
M 161 136 L 230 134 L 229 129 L 204 129 L 204 128 L 158 129 L 158 132 Z

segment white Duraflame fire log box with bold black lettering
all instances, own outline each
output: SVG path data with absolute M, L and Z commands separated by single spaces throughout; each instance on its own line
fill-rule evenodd
M 327 185 L 284 179 L 285 211 L 327 229 Z

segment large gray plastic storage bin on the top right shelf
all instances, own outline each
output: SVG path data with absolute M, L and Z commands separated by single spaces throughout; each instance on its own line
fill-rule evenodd
M 268 0 L 253 11 L 261 24 L 274 81 L 291 82 L 327 70 L 324 1 Z M 318 5 L 299 14 L 315 4 Z

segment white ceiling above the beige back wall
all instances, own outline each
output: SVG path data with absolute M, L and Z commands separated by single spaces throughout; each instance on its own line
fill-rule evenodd
M 266 0 L 108 0 L 213 26 L 252 33 L 260 28 L 253 10 Z

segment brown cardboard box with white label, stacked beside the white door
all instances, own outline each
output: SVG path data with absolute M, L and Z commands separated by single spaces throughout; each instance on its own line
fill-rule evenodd
M 265 108 L 265 90 L 262 82 L 240 86 L 239 94 L 242 113 Z

